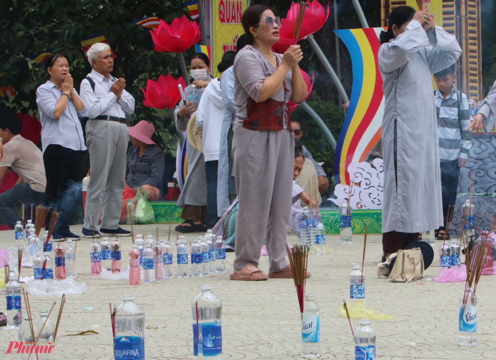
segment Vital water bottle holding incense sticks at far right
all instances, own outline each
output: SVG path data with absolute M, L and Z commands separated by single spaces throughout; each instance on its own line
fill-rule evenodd
M 463 308 L 463 293 L 458 300 L 459 330 L 458 344 L 473 346 L 477 343 L 477 296 L 470 289 L 465 308 Z

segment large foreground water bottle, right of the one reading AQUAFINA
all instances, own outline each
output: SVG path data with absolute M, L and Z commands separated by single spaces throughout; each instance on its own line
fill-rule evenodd
M 193 359 L 222 359 L 222 300 L 202 285 L 191 301 L 193 313 Z M 199 327 L 199 331 L 198 331 Z

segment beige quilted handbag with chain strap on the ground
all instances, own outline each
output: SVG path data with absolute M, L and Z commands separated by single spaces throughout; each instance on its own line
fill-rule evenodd
M 396 262 L 389 274 L 390 282 L 411 282 L 424 278 L 424 258 L 420 248 L 398 250 Z

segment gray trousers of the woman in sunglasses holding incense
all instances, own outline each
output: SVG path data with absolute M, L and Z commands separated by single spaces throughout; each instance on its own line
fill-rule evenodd
M 233 157 L 240 199 L 236 217 L 234 269 L 258 266 L 267 239 L 269 272 L 282 271 L 291 214 L 293 133 L 289 130 L 248 130 L 234 126 Z

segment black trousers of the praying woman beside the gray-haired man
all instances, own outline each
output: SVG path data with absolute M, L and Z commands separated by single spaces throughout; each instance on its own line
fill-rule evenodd
M 45 206 L 61 211 L 56 229 L 68 229 L 75 222 L 78 205 L 82 202 L 81 181 L 86 175 L 83 173 L 84 153 L 61 145 L 49 145 L 43 153 L 47 176 Z M 51 215 L 50 211 L 46 220 L 47 229 Z

